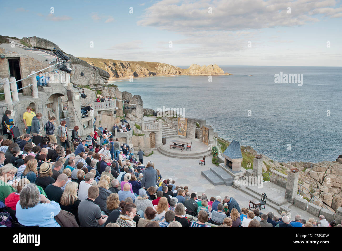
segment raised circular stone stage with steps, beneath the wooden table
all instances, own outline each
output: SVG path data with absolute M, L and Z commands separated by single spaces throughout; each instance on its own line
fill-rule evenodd
M 180 148 L 172 148 L 170 149 L 171 143 L 170 141 L 183 141 L 188 142 L 189 144 L 192 142 L 191 151 L 186 150 L 186 146 L 182 151 Z M 211 151 L 208 150 L 209 147 L 204 143 L 200 142 L 199 139 L 189 139 L 189 138 L 180 138 L 179 136 L 166 138 L 166 144 L 161 145 L 158 148 L 158 151 L 168 157 L 172 158 L 183 158 L 183 159 L 203 159 L 203 155 L 209 156 L 211 155 Z

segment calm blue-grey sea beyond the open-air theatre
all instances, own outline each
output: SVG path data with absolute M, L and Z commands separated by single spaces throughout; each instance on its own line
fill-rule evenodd
M 213 75 L 212 82 L 208 76 L 156 76 L 115 84 L 141 95 L 144 108 L 183 108 L 219 137 L 276 161 L 334 161 L 342 154 L 342 67 L 220 67 L 233 75 Z M 275 83 L 280 72 L 303 74 L 303 85 Z

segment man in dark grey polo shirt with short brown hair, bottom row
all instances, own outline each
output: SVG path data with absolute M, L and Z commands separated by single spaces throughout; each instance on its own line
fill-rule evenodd
M 94 203 L 99 193 L 100 190 L 97 186 L 90 186 L 88 189 L 87 199 L 81 200 L 80 204 L 78 205 L 77 217 L 80 222 L 80 227 L 105 226 L 108 216 L 102 214 L 100 207 Z

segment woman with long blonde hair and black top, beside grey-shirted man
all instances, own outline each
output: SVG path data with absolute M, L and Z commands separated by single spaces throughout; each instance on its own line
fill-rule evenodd
M 81 200 L 77 197 L 77 190 L 78 190 L 77 185 L 78 185 L 77 182 L 70 181 L 65 186 L 65 190 L 61 197 L 60 205 L 61 205 L 61 209 L 74 214 L 76 221 L 78 222 L 77 211 L 78 211 L 78 205 L 80 204 Z

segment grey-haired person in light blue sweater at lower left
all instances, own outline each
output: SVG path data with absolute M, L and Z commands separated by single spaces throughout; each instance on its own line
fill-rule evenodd
M 42 202 L 42 203 L 40 203 Z M 20 192 L 15 216 L 24 226 L 61 227 L 51 215 L 61 211 L 60 205 L 40 194 L 35 184 L 27 184 Z

